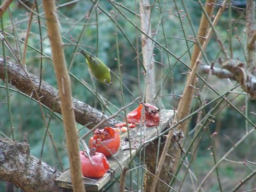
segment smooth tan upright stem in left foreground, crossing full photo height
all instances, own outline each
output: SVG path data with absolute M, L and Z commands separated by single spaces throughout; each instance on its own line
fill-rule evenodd
M 57 18 L 55 1 L 43 1 L 43 7 L 51 43 L 54 70 L 56 73 L 57 84 L 59 86 L 61 111 L 63 115 L 69 165 L 71 170 L 71 181 L 75 192 L 83 192 L 85 191 L 85 186 L 83 183 L 80 163 L 78 133 L 71 97 L 71 85 L 64 56 L 63 42 Z

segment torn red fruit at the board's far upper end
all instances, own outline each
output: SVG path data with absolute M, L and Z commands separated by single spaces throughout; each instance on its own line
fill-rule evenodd
M 145 116 L 143 122 L 146 118 L 146 126 L 152 127 L 159 124 L 159 109 L 148 103 L 144 103 L 145 107 Z M 141 123 L 141 114 L 142 114 L 142 104 L 140 104 L 135 110 L 127 114 L 127 120 L 129 123 L 139 124 Z

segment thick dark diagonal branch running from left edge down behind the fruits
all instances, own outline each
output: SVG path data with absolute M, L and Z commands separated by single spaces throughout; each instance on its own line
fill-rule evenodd
M 21 92 L 26 93 L 27 95 L 30 95 L 30 97 L 37 100 L 36 95 L 33 93 L 33 88 L 29 81 L 29 78 L 32 80 L 33 85 L 37 90 L 39 89 L 40 79 L 34 76 L 33 74 L 30 74 L 27 71 L 29 75 L 29 78 L 28 78 L 24 73 L 24 71 L 22 70 L 22 68 L 20 67 L 20 65 L 18 64 L 14 64 L 8 61 L 6 61 L 6 64 L 7 64 L 9 83 L 14 87 L 16 87 L 17 89 L 19 89 Z M 4 58 L 2 55 L 0 55 L 0 78 L 5 80 Z M 53 109 L 53 111 L 61 114 L 59 93 L 54 87 L 42 81 L 41 89 L 40 89 L 40 92 L 38 92 L 38 94 L 39 94 L 41 103 L 48 106 L 50 109 L 52 109 L 54 102 L 56 102 L 55 108 Z M 107 115 L 103 115 L 101 112 L 92 108 L 88 104 L 83 103 L 82 101 L 79 101 L 74 98 L 72 99 L 72 101 L 74 105 L 76 122 L 81 125 L 86 125 L 88 123 L 91 123 L 87 127 L 93 128 L 99 122 L 101 122 L 102 119 L 108 118 Z M 101 127 L 113 126 L 117 123 L 119 122 L 116 121 L 115 119 L 110 119 L 108 122 L 101 125 Z

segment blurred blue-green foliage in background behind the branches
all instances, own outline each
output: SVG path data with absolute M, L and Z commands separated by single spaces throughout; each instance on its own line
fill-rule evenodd
M 32 1 L 22 1 L 28 7 L 32 5 Z M 176 5 L 173 1 L 166 1 L 165 11 L 162 13 L 162 18 L 159 23 L 159 3 L 160 6 L 163 6 L 162 1 L 152 1 L 152 30 L 153 32 L 157 32 L 157 35 L 153 34 L 153 38 L 156 38 L 160 44 L 165 46 L 165 39 L 167 42 L 167 47 L 170 52 L 174 55 L 181 57 L 182 61 L 186 64 L 190 64 L 190 56 L 193 51 L 193 42 L 194 34 L 189 25 L 187 15 L 184 13 L 183 7 L 181 6 L 180 1 L 176 1 L 177 7 L 179 10 L 179 14 L 181 16 L 181 22 L 178 17 L 178 11 L 176 9 Z M 203 1 L 204 2 L 204 1 Z M 41 5 L 41 1 L 38 1 L 39 5 L 39 15 L 41 17 L 41 30 L 42 30 L 42 44 L 43 44 L 43 53 L 47 56 L 51 57 L 51 49 L 50 42 L 47 38 L 46 29 L 45 29 L 45 20 L 43 18 L 43 9 Z M 88 10 L 91 8 L 91 1 L 74 1 L 72 4 L 65 5 L 68 1 L 56 1 L 58 6 L 58 14 L 60 20 L 61 32 L 65 43 L 65 56 L 67 65 L 69 66 L 72 58 L 74 56 L 75 46 L 72 45 L 72 42 L 76 42 L 81 34 L 81 31 L 85 25 L 86 18 L 88 15 Z M 123 6 L 128 8 L 126 10 L 121 6 L 118 6 L 121 11 L 128 17 L 135 25 L 139 26 L 140 21 L 139 18 L 136 17 L 134 12 L 138 13 L 138 1 L 117 1 L 117 3 L 121 3 Z M 137 4 L 136 4 L 137 3 Z M 197 27 L 200 23 L 200 18 L 202 11 L 200 6 L 194 1 L 185 1 L 187 7 L 189 9 L 190 16 L 193 20 L 193 25 L 197 30 Z M 219 2 L 218 2 L 219 3 Z M 98 5 L 106 11 L 108 16 L 97 8 L 97 17 L 95 9 L 93 9 L 91 16 L 87 22 L 87 26 L 85 28 L 85 32 L 82 36 L 82 40 L 80 41 L 80 46 L 88 52 L 98 55 L 98 57 L 105 62 L 113 71 L 115 75 L 118 75 L 117 72 L 117 44 L 115 35 L 115 23 L 110 19 L 117 19 L 118 26 L 125 33 L 126 37 L 124 37 L 123 33 L 118 30 L 118 45 L 120 49 L 120 62 L 122 64 L 122 82 L 130 90 L 130 92 L 134 95 L 134 97 L 138 97 L 144 91 L 144 75 L 143 75 L 143 67 L 139 64 L 139 71 L 137 65 L 137 55 L 135 53 L 136 49 L 139 49 L 141 52 L 141 33 L 136 30 L 136 28 L 131 25 L 123 16 L 121 16 L 117 10 L 108 2 L 108 1 L 98 1 Z M 214 11 L 216 14 L 217 9 Z M 132 12 L 132 13 L 131 13 Z M 10 15 L 11 13 L 11 15 Z M 13 20 L 11 20 L 13 17 Z M 10 43 L 11 47 L 18 54 L 18 49 L 16 46 L 16 41 L 14 38 L 15 30 L 17 30 L 18 38 L 20 40 L 25 39 L 27 25 L 28 25 L 29 11 L 24 7 L 21 3 L 15 1 L 10 5 L 9 13 L 8 11 L 3 16 L 3 25 L 4 30 L 6 32 L 5 38 Z M 97 20 L 98 19 L 98 25 Z M 14 22 L 14 26 L 13 23 Z M 224 42 L 226 42 L 226 48 L 228 47 L 228 14 L 225 11 L 224 15 L 220 19 L 216 29 L 221 34 L 221 38 Z M 163 28 L 162 25 L 163 24 Z M 236 32 L 233 32 L 234 38 L 232 38 L 232 51 L 234 52 L 234 58 L 239 58 L 241 61 L 245 62 L 245 55 L 243 54 L 242 49 L 246 49 L 246 33 L 245 33 L 245 11 L 243 8 L 233 7 L 232 8 L 232 26 L 236 27 Z M 187 35 L 187 43 L 184 40 L 184 34 L 182 31 L 182 27 Z M 163 30 L 164 29 L 164 30 Z M 8 34 L 9 35 L 8 35 Z M 98 35 L 97 35 L 98 33 Z M 235 35 L 238 35 L 236 38 Z M 130 43 L 133 45 L 131 47 Z M 136 40 L 138 40 L 139 46 L 136 45 Z M 31 32 L 29 36 L 29 45 L 26 57 L 27 69 L 30 73 L 40 76 L 40 52 L 35 51 L 35 49 L 40 50 L 40 33 L 39 33 L 39 25 L 37 16 L 34 16 L 32 21 Z M 97 48 L 98 43 L 98 48 Z M 31 48 L 34 47 L 34 48 Z M 188 49 L 190 47 L 190 49 Z M 1 46 L 1 54 L 3 53 Z M 21 43 L 21 50 L 24 49 L 24 43 Z M 10 56 L 10 61 L 15 63 L 15 60 L 11 56 L 10 52 L 6 51 L 6 55 Z M 215 36 L 213 35 L 212 40 L 207 46 L 206 54 L 208 59 L 211 62 L 215 62 L 215 66 L 219 67 L 219 64 L 216 62 L 217 58 L 223 57 L 222 54 L 219 54 L 220 47 L 216 41 Z M 161 109 L 176 109 L 179 101 L 179 97 L 171 97 L 166 94 L 178 94 L 181 95 L 184 89 L 184 83 L 186 79 L 186 72 L 188 71 L 187 67 L 182 65 L 176 58 L 171 55 L 168 55 L 165 51 L 163 51 L 159 46 L 155 46 L 154 49 L 155 60 L 156 60 L 156 80 L 157 80 L 157 91 L 161 89 L 161 101 L 159 101 L 158 106 Z M 182 56 L 183 55 L 183 56 Z M 170 58 L 170 63 L 168 61 L 168 56 Z M 142 55 L 139 56 L 142 59 Z M 205 61 L 203 61 L 205 62 Z M 95 91 L 95 87 L 97 86 L 97 82 L 95 79 L 91 79 L 88 68 L 85 64 L 84 58 L 80 54 L 75 54 L 75 60 L 71 67 L 71 73 L 74 76 L 82 81 L 85 85 L 91 87 L 92 90 Z M 167 80 L 162 85 L 163 79 L 166 78 L 166 75 L 171 71 L 171 73 L 167 76 Z M 139 77 L 138 77 L 139 74 Z M 217 79 L 216 77 L 207 77 L 202 75 L 205 79 L 220 93 L 224 93 L 231 85 L 235 85 L 235 81 L 228 81 L 227 79 Z M 53 70 L 53 65 L 50 59 L 43 56 L 43 80 L 48 82 L 51 86 L 57 88 L 55 74 Z M 98 83 L 98 91 L 102 97 L 108 100 L 108 110 L 105 110 L 104 106 L 97 102 L 97 109 L 100 111 L 104 111 L 107 115 L 110 113 L 114 113 L 123 106 L 121 94 L 120 94 L 120 82 L 117 78 L 112 75 L 113 83 L 110 87 L 103 85 L 102 83 Z M 73 89 L 73 97 L 88 103 L 91 106 L 95 106 L 96 98 L 95 95 L 92 94 L 82 83 L 78 82 L 75 78 L 71 77 L 72 81 L 72 89 Z M 140 82 L 140 83 L 139 83 Z M 0 80 L 0 85 L 4 86 L 5 82 Z M 10 86 L 11 87 L 11 86 Z M 201 81 L 198 82 L 198 87 L 200 88 L 201 97 L 207 101 L 210 101 L 217 97 L 217 95 L 205 87 Z M 12 87 L 13 88 L 13 87 Z M 14 88 L 15 89 L 15 88 Z M 124 88 L 124 98 L 125 104 L 130 103 L 134 97 Z M 14 134 L 17 141 L 21 141 L 24 137 L 24 134 L 27 133 L 28 140 L 31 147 L 31 154 L 34 157 L 39 158 L 41 149 L 43 136 L 45 134 L 45 126 L 42 121 L 41 112 L 39 106 L 36 102 L 29 99 L 29 97 L 25 97 L 18 92 L 10 91 L 10 104 L 11 104 L 11 113 L 14 121 Z M 228 98 L 232 100 L 232 103 L 242 112 L 248 112 L 248 117 L 252 122 L 256 122 L 256 116 L 253 113 L 256 111 L 255 101 L 248 100 L 246 95 L 240 94 L 240 89 L 237 89 L 236 92 L 239 94 L 230 94 Z M 197 109 L 200 105 L 198 98 L 195 96 L 194 99 L 194 109 Z M 0 127 L 2 138 L 5 138 L 3 134 L 11 138 L 11 129 L 8 117 L 8 107 L 6 104 L 6 91 L 1 87 L 0 92 L 0 116 L 2 117 L 0 120 Z M 247 102 L 247 104 L 246 104 Z M 224 105 L 224 104 L 223 104 Z M 243 106 L 247 106 L 247 108 Z M 211 105 L 205 109 L 204 113 L 207 113 L 214 105 Z M 117 108 L 116 108 L 117 107 Z M 135 105 L 131 106 L 129 110 L 134 109 Z M 45 114 L 50 114 L 48 110 L 44 110 Z M 197 115 L 192 117 L 191 121 L 191 129 L 196 125 Z M 122 118 L 120 118 L 122 119 Z M 77 125 L 78 128 L 82 128 L 82 125 Z M 215 123 L 210 124 L 210 130 L 213 133 L 217 131 L 218 135 L 213 138 L 214 147 L 217 152 L 217 157 L 221 157 L 230 147 L 232 147 L 232 142 L 236 142 L 241 138 L 246 131 L 246 120 L 240 114 L 237 113 L 232 107 L 224 106 L 224 109 L 217 114 L 215 118 Z M 250 127 L 250 125 L 248 125 Z M 190 129 L 190 130 L 191 130 Z M 84 128 L 80 131 L 80 134 L 85 133 L 87 129 Z M 50 132 L 52 134 L 53 140 L 59 151 L 60 159 L 63 164 L 64 169 L 68 167 L 68 158 L 65 149 L 65 139 L 64 139 L 64 131 L 63 125 L 59 118 L 53 115 L 50 123 Z M 193 134 L 192 134 L 193 135 Z M 187 138 L 192 137 L 192 135 L 188 135 Z M 255 133 L 247 138 L 245 142 L 243 142 L 235 152 L 230 155 L 230 159 L 235 159 L 236 161 L 243 161 L 245 159 L 251 159 L 255 161 Z M 232 140 L 232 142 L 230 141 Z M 187 144 L 187 143 L 186 143 Z M 201 140 L 201 144 L 199 150 L 197 151 L 197 159 L 194 166 L 197 170 L 200 170 L 200 175 L 204 175 L 207 173 L 207 170 L 210 169 L 213 165 L 212 154 L 208 149 L 211 147 L 209 137 L 205 134 Z M 57 167 L 61 170 L 61 166 L 59 161 L 57 160 L 56 152 L 54 151 L 52 141 L 49 136 L 46 137 L 46 142 L 43 150 L 42 160 L 53 167 Z M 237 184 L 238 178 L 243 178 L 246 174 L 248 174 L 245 166 L 241 164 L 232 164 L 229 162 L 225 162 L 221 165 L 224 167 L 220 174 L 223 176 L 223 182 L 226 184 L 230 184 L 230 186 L 234 186 Z M 194 167 L 192 169 L 195 169 Z M 242 173 L 241 173 L 242 172 Z M 182 179 L 182 173 L 179 175 Z M 233 178 L 236 178 L 232 181 Z M 215 181 L 215 180 L 213 180 Z M 210 182 L 211 183 L 211 182 Z M 248 186 L 255 185 L 253 183 Z M 211 188 L 206 191 L 217 191 L 218 185 L 217 183 L 212 182 L 209 184 Z M 227 188 L 230 188 L 229 185 L 225 185 Z M 254 186 L 256 187 L 256 186 Z M 191 186 L 185 184 L 185 187 L 189 191 Z M 216 188 L 216 189 L 215 189 Z M 226 191 L 226 190 L 225 190 Z

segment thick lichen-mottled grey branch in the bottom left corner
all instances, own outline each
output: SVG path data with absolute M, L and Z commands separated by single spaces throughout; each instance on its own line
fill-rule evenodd
M 54 184 L 60 172 L 30 157 L 27 142 L 0 140 L 0 159 L 1 179 L 27 192 L 62 191 Z

